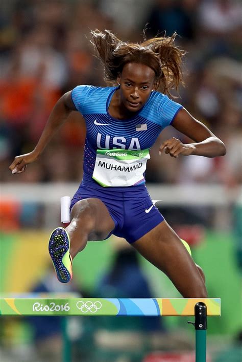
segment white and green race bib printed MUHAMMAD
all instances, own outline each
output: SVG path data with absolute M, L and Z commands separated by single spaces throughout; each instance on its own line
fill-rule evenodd
M 103 187 L 135 186 L 144 183 L 143 173 L 149 159 L 149 149 L 96 150 L 92 178 Z

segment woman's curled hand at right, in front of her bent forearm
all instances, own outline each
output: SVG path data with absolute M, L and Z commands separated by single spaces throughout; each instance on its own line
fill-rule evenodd
M 189 156 L 194 150 L 192 144 L 184 144 L 179 139 L 173 137 L 164 141 L 159 148 L 159 155 L 164 151 L 167 155 L 178 157 L 179 155 Z

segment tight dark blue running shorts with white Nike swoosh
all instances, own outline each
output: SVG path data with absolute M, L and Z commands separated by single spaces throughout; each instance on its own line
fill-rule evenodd
M 124 238 L 130 244 L 164 220 L 157 207 L 153 205 L 146 186 L 143 185 L 129 187 L 127 191 L 114 191 L 106 188 L 95 189 L 81 184 L 71 200 L 70 211 L 77 201 L 88 198 L 98 198 L 103 201 L 115 223 L 110 235 Z

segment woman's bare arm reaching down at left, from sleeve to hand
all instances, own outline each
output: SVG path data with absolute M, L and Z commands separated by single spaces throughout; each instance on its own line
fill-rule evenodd
M 44 130 L 34 150 L 25 155 L 16 156 L 9 166 L 12 174 L 25 171 L 28 163 L 34 162 L 50 142 L 52 137 L 58 131 L 60 126 L 65 123 L 71 111 L 77 111 L 71 99 L 71 91 L 65 93 L 55 104 Z

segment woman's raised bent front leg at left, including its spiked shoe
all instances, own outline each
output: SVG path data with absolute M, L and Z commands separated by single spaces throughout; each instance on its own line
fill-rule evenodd
M 88 240 L 104 240 L 115 223 L 105 204 L 98 198 L 78 201 L 71 210 L 66 229 L 56 228 L 50 237 L 49 252 L 61 283 L 72 278 L 72 259 L 83 250 Z

